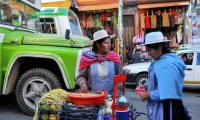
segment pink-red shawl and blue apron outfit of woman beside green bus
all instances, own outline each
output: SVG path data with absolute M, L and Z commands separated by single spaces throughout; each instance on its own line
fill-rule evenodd
M 123 73 L 122 65 L 116 53 L 109 52 L 109 54 L 103 58 L 103 60 L 97 60 L 94 52 L 87 52 L 86 54 L 83 54 L 80 63 L 82 65 L 80 65 L 81 69 L 79 69 L 76 83 L 80 86 L 83 82 L 85 82 L 89 87 L 89 90 L 105 90 L 112 95 L 113 78 L 114 75 Z M 85 65 L 83 65 L 84 61 L 86 62 Z M 120 95 L 122 88 L 123 84 L 121 82 L 118 83 L 117 96 Z

